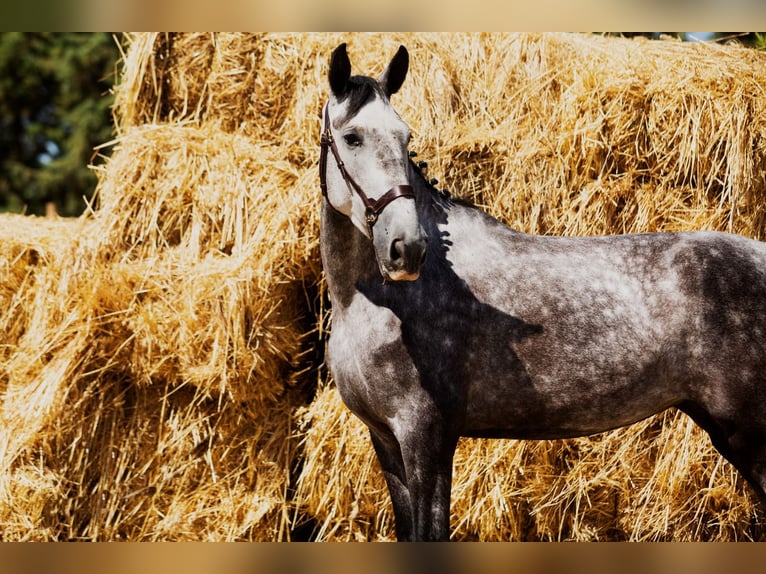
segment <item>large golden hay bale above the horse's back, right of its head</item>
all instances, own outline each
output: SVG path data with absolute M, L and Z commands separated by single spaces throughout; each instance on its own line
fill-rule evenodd
M 404 116 L 434 173 L 511 225 L 760 234 L 762 53 L 559 34 L 446 43 L 413 56 L 424 71 Z

